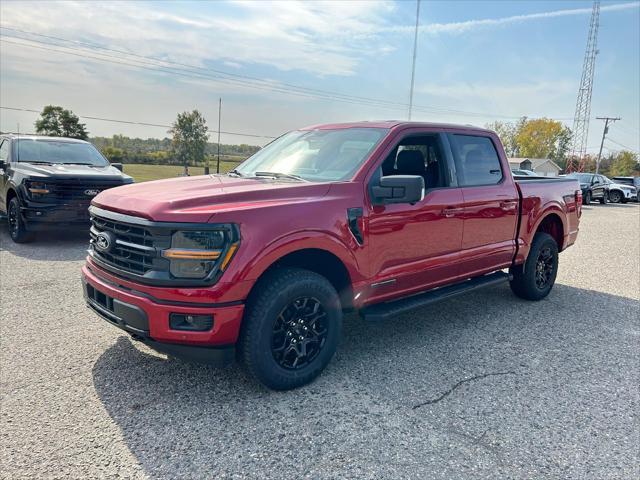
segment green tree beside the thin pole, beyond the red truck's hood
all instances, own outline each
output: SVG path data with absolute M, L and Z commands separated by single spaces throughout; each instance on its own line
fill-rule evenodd
M 184 165 L 184 174 L 189 175 L 189 162 L 204 161 L 207 146 L 207 121 L 198 110 L 179 113 L 169 133 L 173 135 L 172 150 L 180 163 Z

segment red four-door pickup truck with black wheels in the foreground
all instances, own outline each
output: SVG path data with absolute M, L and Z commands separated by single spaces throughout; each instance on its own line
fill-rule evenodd
M 225 175 L 100 193 L 85 297 L 157 351 L 237 356 L 268 387 L 295 388 L 330 361 L 345 311 L 379 321 L 507 281 L 544 298 L 581 195 L 574 179 L 514 179 L 488 130 L 312 126 Z

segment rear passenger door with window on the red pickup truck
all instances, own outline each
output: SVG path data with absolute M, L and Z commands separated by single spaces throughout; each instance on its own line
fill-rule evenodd
M 491 137 L 449 134 L 463 197 L 461 272 L 468 276 L 504 268 L 516 249 L 519 197 Z

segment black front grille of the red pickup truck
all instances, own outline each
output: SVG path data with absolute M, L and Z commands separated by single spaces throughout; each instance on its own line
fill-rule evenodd
M 91 255 L 104 264 L 127 273 L 145 275 L 151 270 L 169 269 L 168 260 L 158 255 L 161 249 L 169 248 L 171 232 L 152 231 L 140 225 L 124 223 L 109 218 L 91 215 Z M 107 232 L 109 248 L 100 249 L 96 240 L 100 233 Z

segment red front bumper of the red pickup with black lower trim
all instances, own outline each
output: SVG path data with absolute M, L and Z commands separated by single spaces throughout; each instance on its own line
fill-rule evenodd
M 234 358 L 244 304 L 167 302 L 144 296 L 100 278 L 85 265 L 82 284 L 87 306 L 101 318 L 161 353 L 209 364 L 226 364 Z M 213 315 L 208 331 L 173 330 L 171 313 Z

